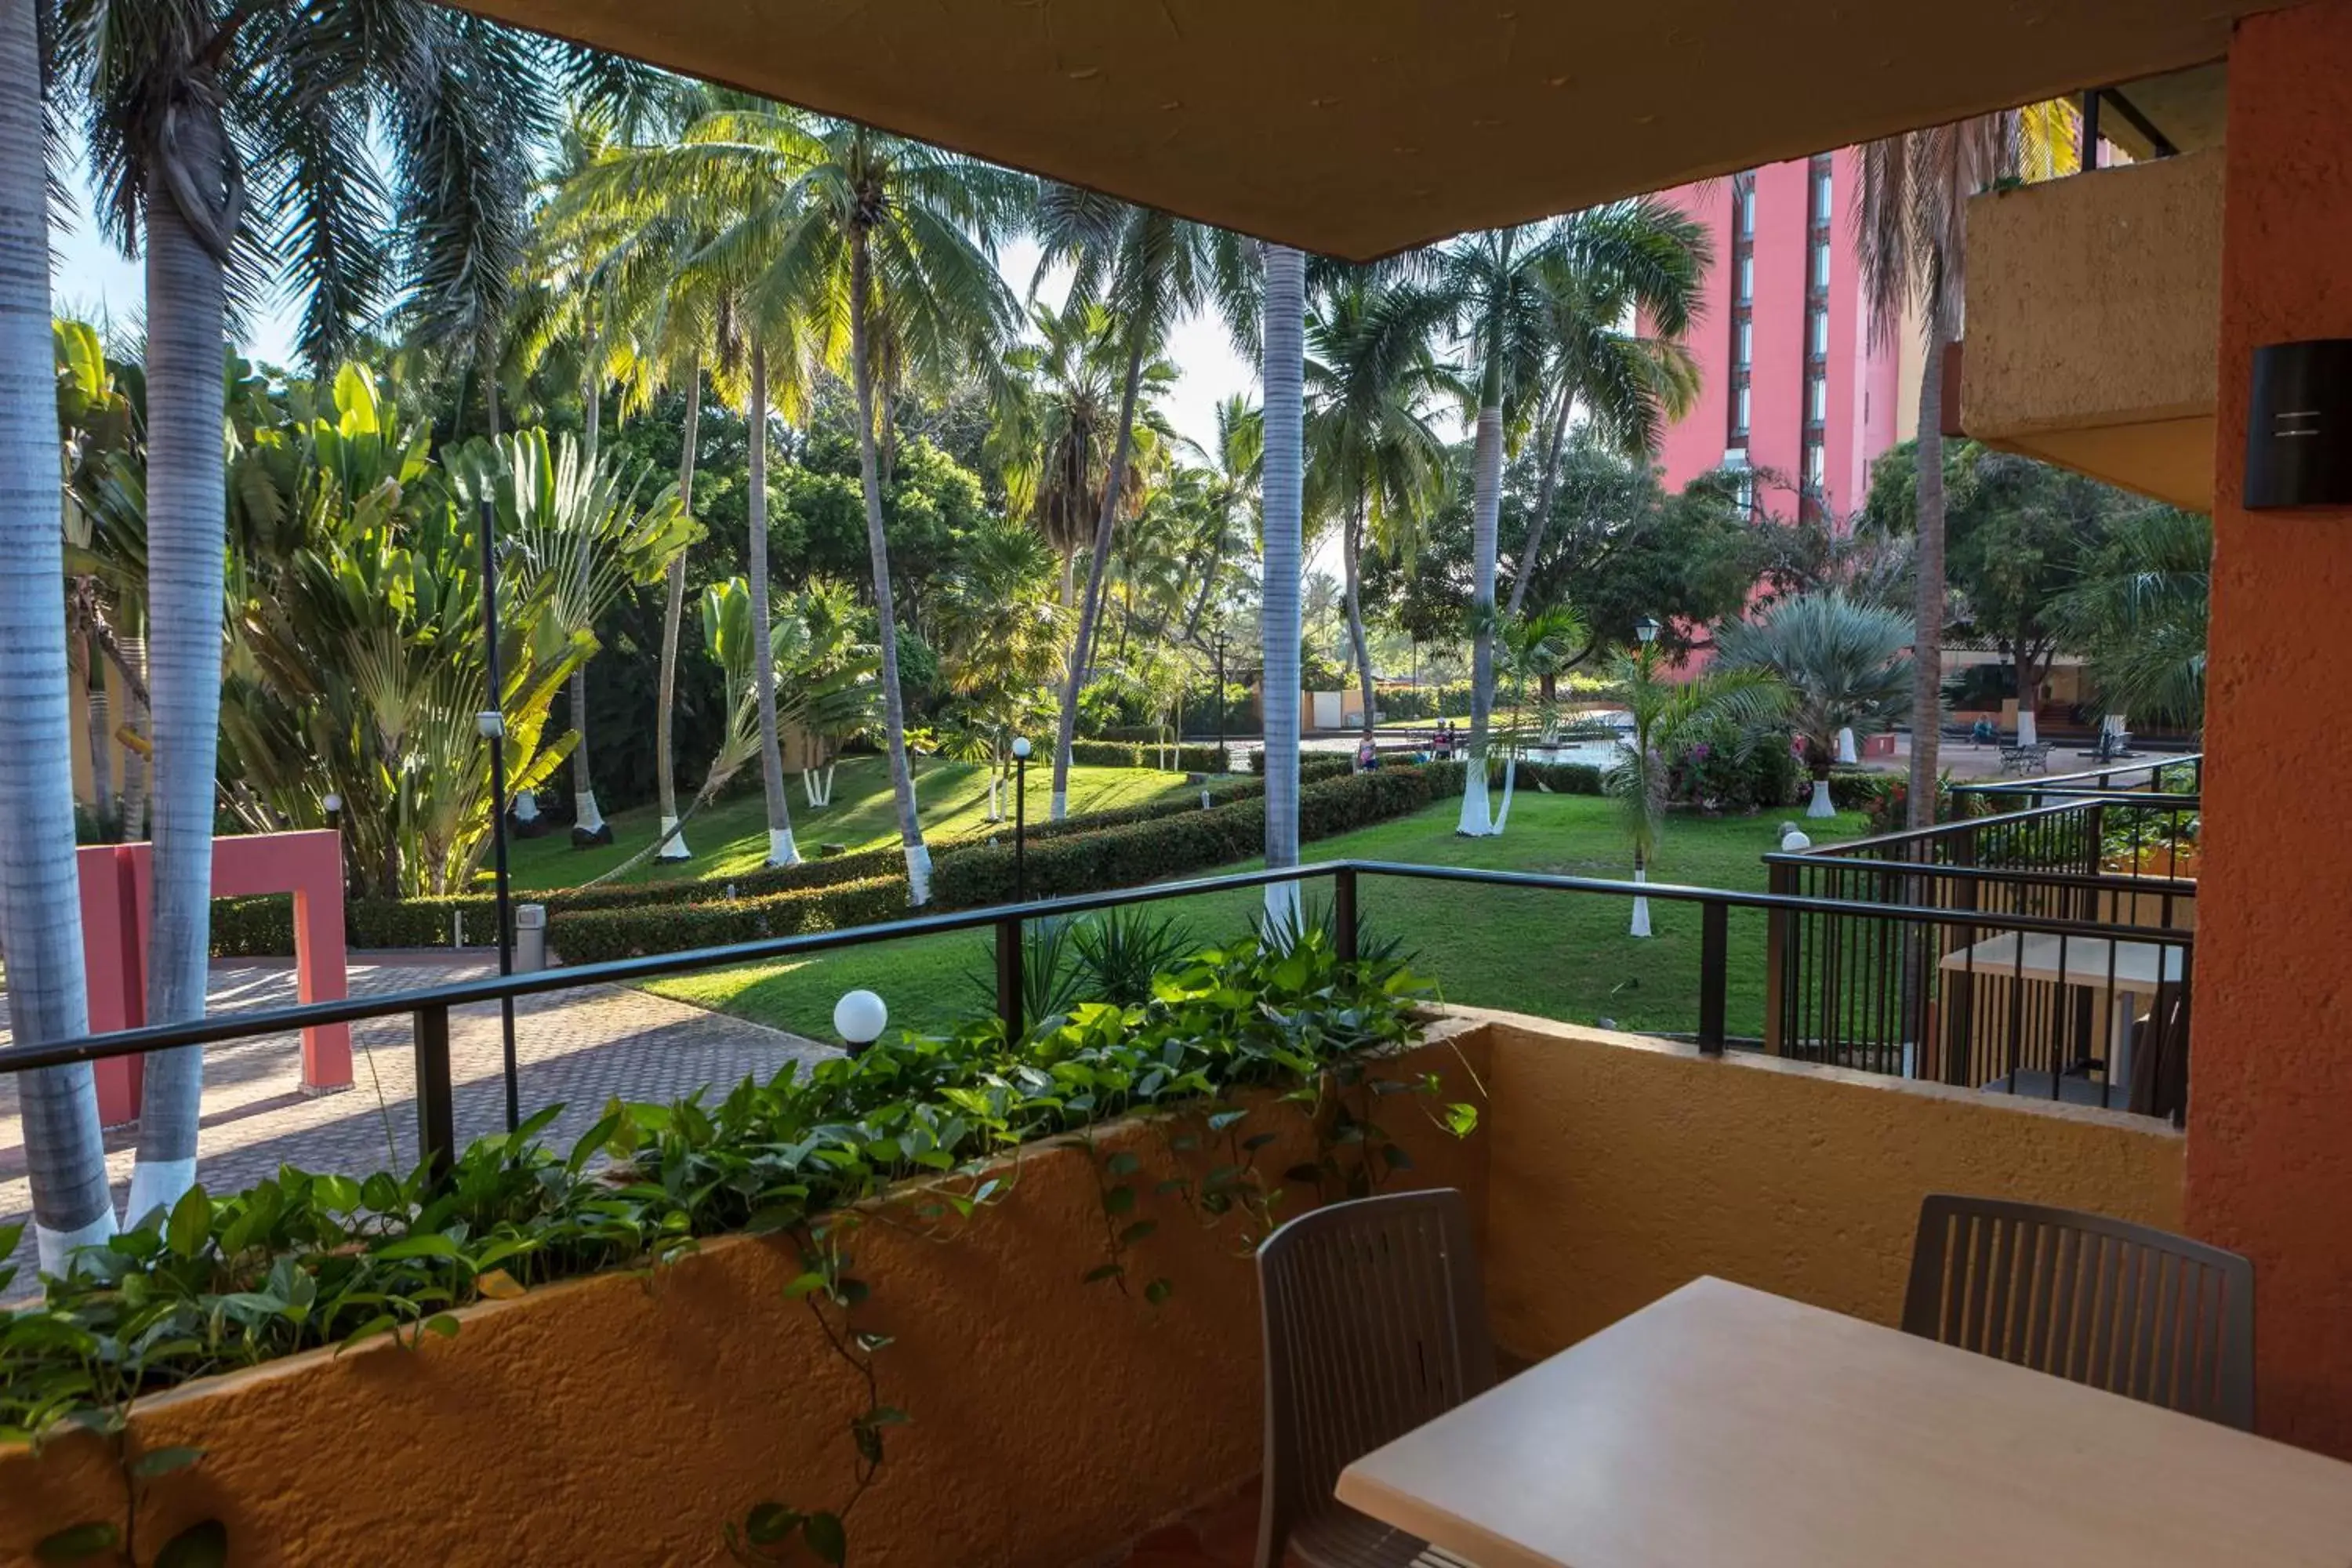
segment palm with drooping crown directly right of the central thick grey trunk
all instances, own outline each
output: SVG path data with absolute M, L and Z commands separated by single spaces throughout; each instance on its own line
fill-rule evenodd
M 1374 731 L 1371 642 L 1364 637 L 1364 538 L 1404 555 L 1418 548 L 1421 520 L 1446 484 L 1446 449 L 1430 404 L 1451 376 L 1430 350 L 1444 301 L 1425 289 L 1378 284 L 1348 273 L 1319 292 L 1308 317 L 1310 510 L 1341 529 L 1348 644 Z

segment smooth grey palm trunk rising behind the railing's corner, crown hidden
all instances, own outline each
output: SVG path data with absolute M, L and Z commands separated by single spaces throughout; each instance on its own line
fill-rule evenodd
M 1305 256 L 1265 247 L 1265 865 L 1298 865 L 1298 559 L 1303 552 L 1301 440 L 1305 423 Z M 1298 929 L 1298 884 L 1272 882 L 1265 914 L 1277 931 Z

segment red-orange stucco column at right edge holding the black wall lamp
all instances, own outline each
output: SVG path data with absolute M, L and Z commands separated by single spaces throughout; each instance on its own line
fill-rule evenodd
M 2352 508 L 2239 501 L 2253 350 L 2352 336 L 2352 0 L 2239 24 L 2227 160 L 2185 1213 L 2256 1262 L 2263 1432 L 2352 1458 Z

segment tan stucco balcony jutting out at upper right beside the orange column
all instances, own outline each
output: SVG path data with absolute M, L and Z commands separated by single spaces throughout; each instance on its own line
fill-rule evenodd
M 2211 148 L 1969 202 L 1962 430 L 2211 510 L 2220 186 Z

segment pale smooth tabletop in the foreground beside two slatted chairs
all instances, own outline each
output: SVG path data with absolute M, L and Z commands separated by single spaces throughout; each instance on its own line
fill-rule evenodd
M 2352 1465 L 1698 1279 L 1350 1465 L 1479 1568 L 2345 1568 Z

